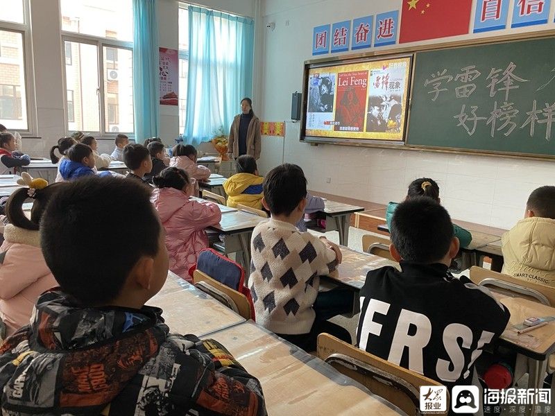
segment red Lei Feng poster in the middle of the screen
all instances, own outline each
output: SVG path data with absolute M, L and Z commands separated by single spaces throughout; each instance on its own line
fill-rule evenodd
M 340 72 L 337 79 L 335 131 L 364 131 L 368 71 Z

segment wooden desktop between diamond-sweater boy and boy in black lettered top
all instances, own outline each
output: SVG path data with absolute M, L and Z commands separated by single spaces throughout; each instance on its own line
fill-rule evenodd
M 393 266 L 399 268 L 399 263 L 384 259 L 384 257 L 357 252 L 347 247 L 341 247 L 343 260 L 334 272 L 330 273 L 328 278 L 334 283 L 343 284 L 359 291 L 364 286 L 366 274 L 370 270 L 375 270 L 384 266 Z

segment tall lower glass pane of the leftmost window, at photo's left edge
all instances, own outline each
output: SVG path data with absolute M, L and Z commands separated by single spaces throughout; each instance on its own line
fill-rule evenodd
M 22 33 L 0 31 L 0 123 L 28 130 Z

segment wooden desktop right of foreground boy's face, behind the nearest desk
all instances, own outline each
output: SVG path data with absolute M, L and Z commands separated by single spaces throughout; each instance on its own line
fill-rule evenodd
M 162 317 L 171 332 L 181 334 L 193 333 L 200 337 L 245 322 L 243 317 L 173 272 L 168 272 L 162 290 L 146 304 L 162 308 Z

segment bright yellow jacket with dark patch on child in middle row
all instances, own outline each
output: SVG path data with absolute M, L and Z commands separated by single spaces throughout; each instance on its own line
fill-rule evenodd
M 223 182 L 223 189 L 228 194 L 228 207 L 237 204 L 262 209 L 262 182 L 264 177 L 252 173 L 236 173 Z

